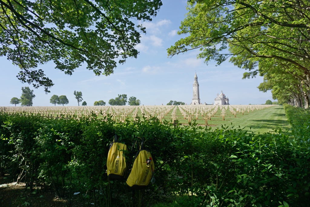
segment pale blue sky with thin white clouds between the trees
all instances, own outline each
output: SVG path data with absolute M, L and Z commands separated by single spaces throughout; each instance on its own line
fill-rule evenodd
M 170 100 L 190 104 L 195 72 L 203 104 L 212 104 L 221 91 L 229 98 L 231 105 L 264 104 L 272 100 L 270 91 L 264 93 L 257 88 L 263 82 L 263 77 L 242 79 L 246 71 L 229 61 L 219 66 L 211 61 L 207 65 L 202 59 L 197 59 L 198 50 L 168 57 L 167 48 L 181 38 L 177 31 L 187 13 L 187 0 L 162 2 L 153 21 L 143 23 L 146 34 L 142 34 L 141 43 L 136 46 L 138 58 L 129 58 L 125 64 L 117 65 L 109 76 L 95 76 L 84 65 L 69 76 L 56 70 L 54 64 L 49 62 L 39 66 L 55 84 L 49 89 L 51 92 L 46 94 L 42 87 L 33 88 L 20 82 L 16 78 L 19 68 L 6 57 L 0 57 L 0 106 L 14 106 L 10 104 L 11 98 L 20 98 L 21 87 L 26 86 L 36 96 L 33 106 L 54 106 L 50 103 L 54 94 L 67 96 L 69 104 L 65 106 L 78 106 L 74 91 L 82 92 L 87 106 L 93 106 L 99 100 L 109 105 L 108 101 L 118 94 L 126 94 L 128 99 L 136 97 L 145 106 L 166 105 Z

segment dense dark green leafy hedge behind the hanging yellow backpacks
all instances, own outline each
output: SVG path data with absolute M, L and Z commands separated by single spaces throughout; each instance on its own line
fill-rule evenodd
M 195 122 L 174 127 L 157 119 L 48 119 L 0 114 L 0 169 L 26 182 L 51 185 L 57 196 L 79 191 L 85 206 L 148 206 L 181 196 L 180 206 L 308 206 L 309 142 L 276 130 L 254 134 Z M 134 191 L 107 178 L 114 134 L 129 146 L 144 137 L 155 162 L 154 185 Z M 301 133 L 301 132 L 300 132 Z M 128 157 L 129 161 L 133 156 Z

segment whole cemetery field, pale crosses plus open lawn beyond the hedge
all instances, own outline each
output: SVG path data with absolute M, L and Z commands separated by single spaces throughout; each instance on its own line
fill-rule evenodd
M 283 106 L 279 105 L 182 105 L 182 106 L 33 106 L 0 107 L 8 114 L 41 115 L 50 118 L 76 118 L 96 115 L 99 119 L 111 116 L 124 122 L 137 117 L 156 117 L 159 121 L 188 125 L 196 122 L 203 127 L 220 128 L 240 126 L 255 133 L 273 132 L 281 128 L 289 130 Z

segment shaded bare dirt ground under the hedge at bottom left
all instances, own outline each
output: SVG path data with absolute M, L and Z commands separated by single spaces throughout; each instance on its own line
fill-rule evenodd
M 33 191 L 25 189 L 24 183 L 16 183 L 7 177 L 0 177 L 0 206 L 1 207 L 67 207 L 69 199 L 59 199 L 51 187 L 35 186 Z M 72 207 L 82 206 L 78 196 L 72 196 Z

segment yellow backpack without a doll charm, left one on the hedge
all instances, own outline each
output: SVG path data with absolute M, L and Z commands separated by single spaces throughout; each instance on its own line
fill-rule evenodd
M 118 142 L 115 134 L 113 143 L 110 145 L 107 159 L 107 173 L 109 179 L 124 180 L 127 175 L 126 156 L 127 145 Z

